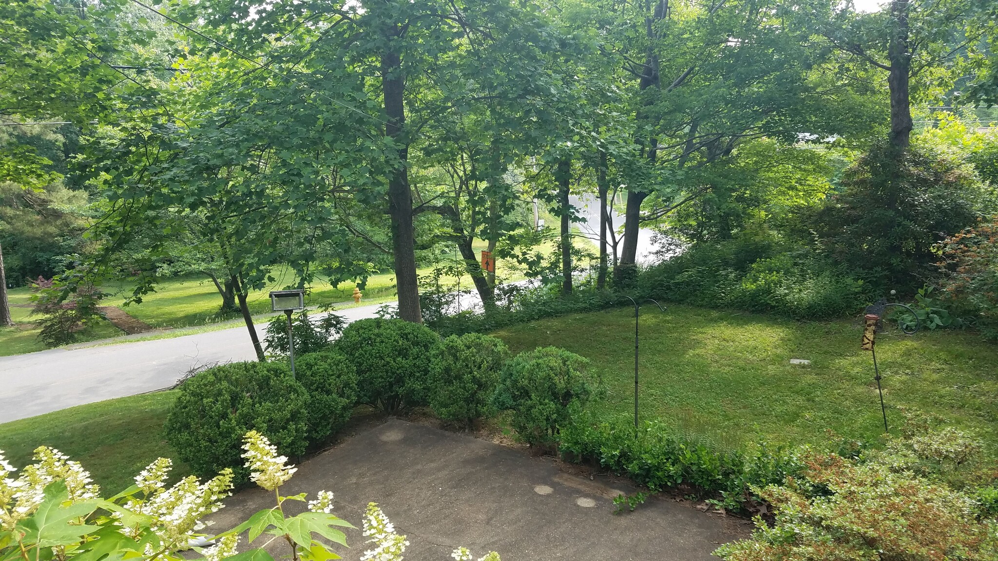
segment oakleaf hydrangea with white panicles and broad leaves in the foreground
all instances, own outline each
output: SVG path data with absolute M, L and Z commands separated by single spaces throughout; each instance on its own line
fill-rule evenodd
M 296 471 L 265 436 L 250 430 L 244 437 L 243 457 L 250 479 L 273 492 L 274 506 L 260 510 L 235 528 L 215 536 L 203 533 L 202 519 L 218 511 L 233 489 L 233 470 L 202 482 L 195 476 L 167 486 L 171 460 L 159 458 L 135 477 L 135 484 L 105 499 L 90 474 L 58 450 L 35 450 L 35 463 L 17 469 L 0 450 L 0 559 L 4 561 L 273 561 L 263 548 L 274 540 L 287 544 L 292 561 L 327 561 L 339 557 L 326 542 L 346 546 L 339 528 L 353 526 L 333 514 L 333 494 L 326 490 L 308 500 L 305 493 L 282 496 L 280 487 Z M 307 510 L 285 514 L 285 501 L 305 502 Z M 240 536 L 248 532 L 250 544 L 261 534 L 270 536 L 257 548 L 240 552 Z M 398 535 L 377 504 L 367 505 L 363 535 L 369 538 L 362 559 L 401 561 L 409 545 Z M 321 538 L 321 540 L 320 540 Z M 197 547 L 196 540 L 214 542 Z M 322 541 L 324 540 L 324 541 Z M 186 553 L 194 550 L 201 557 Z M 471 559 L 465 548 L 454 550 L 455 559 Z M 478 561 L 500 561 L 490 552 Z

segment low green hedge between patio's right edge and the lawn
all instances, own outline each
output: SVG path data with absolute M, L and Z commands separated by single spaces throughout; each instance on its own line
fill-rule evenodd
M 797 452 L 785 447 L 760 442 L 751 452 L 720 450 L 677 434 L 661 421 L 646 421 L 635 429 L 624 417 L 596 419 L 579 413 L 559 437 L 569 460 L 596 462 L 654 491 L 691 485 L 729 510 L 742 510 L 757 499 L 751 485 L 781 483 L 802 467 Z

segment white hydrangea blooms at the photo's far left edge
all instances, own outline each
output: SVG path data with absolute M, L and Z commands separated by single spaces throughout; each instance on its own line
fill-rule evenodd
M 45 499 L 45 487 L 63 481 L 71 501 L 96 498 L 100 492 L 80 462 L 69 459 L 55 448 L 39 446 L 32 456 L 35 463 L 24 468 L 17 479 L 8 477 L 16 471 L 0 450 L 0 529 L 14 525 L 31 514 Z

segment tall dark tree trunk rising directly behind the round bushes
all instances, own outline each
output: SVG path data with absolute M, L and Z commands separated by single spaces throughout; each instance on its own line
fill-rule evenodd
M 385 40 L 398 34 L 391 28 Z M 401 58 L 390 48 L 381 55 L 381 89 L 388 122 L 384 134 L 394 142 L 398 167 L 388 179 L 388 214 L 391 216 L 392 253 L 395 258 L 395 286 L 398 290 L 398 316 L 406 321 L 423 322 L 419 309 L 419 285 L 416 278 L 416 241 L 413 230 L 412 192 L 409 189 L 408 142 L 405 127 L 405 76 Z

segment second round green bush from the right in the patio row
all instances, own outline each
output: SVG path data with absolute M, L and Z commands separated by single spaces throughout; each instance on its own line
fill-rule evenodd
M 460 426 L 486 416 L 499 371 L 508 358 L 509 349 L 496 337 L 468 333 L 443 339 L 432 357 L 433 412 Z

